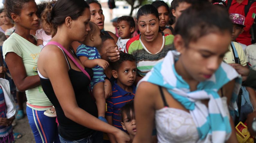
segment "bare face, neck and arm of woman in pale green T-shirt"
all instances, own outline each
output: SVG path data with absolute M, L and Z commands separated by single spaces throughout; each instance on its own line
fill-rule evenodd
M 11 13 L 11 17 L 16 25 L 15 33 L 34 45 L 36 45 L 36 40 L 30 35 L 30 30 L 37 29 L 39 26 L 36 12 L 37 7 L 35 2 L 29 1 L 24 4 L 20 15 Z M 16 53 L 8 52 L 5 55 L 5 62 L 19 91 L 26 91 L 41 84 L 38 75 L 27 76 L 23 60 Z

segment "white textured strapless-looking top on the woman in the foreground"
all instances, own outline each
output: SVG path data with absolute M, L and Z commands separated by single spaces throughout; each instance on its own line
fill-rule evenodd
M 156 110 L 158 143 L 196 143 L 198 131 L 192 116 L 183 110 L 164 107 Z

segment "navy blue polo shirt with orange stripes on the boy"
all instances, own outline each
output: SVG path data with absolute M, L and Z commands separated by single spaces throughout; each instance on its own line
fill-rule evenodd
M 120 114 L 120 109 L 123 107 L 127 102 L 132 101 L 134 99 L 134 93 L 136 91 L 136 86 L 132 85 L 133 93 L 127 92 L 122 89 L 119 85 L 117 85 L 117 81 L 114 82 L 112 86 L 112 96 L 109 97 L 107 102 L 107 112 L 106 116 L 112 116 L 112 123 L 113 126 L 119 128 L 122 131 L 122 119 Z

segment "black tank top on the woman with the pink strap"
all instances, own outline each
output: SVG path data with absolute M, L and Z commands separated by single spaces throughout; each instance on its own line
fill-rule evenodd
M 90 84 L 89 78 L 83 72 L 72 69 L 69 61 L 68 61 L 68 64 L 70 67 L 68 74 L 75 92 L 75 97 L 76 97 L 78 106 L 83 110 L 85 110 L 86 112 L 90 113 L 91 115 L 97 117 L 98 116 L 97 106 L 95 104 L 95 101 L 90 96 L 89 90 L 88 90 L 88 86 Z M 92 76 L 93 76 L 92 69 L 85 68 L 85 70 L 88 72 L 88 74 L 92 79 Z M 61 108 L 61 105 L 58 99 L 56 98 L 56 95 L 53 91 L 50 80 L 40 77 L 40 81 L 43 87 L 43 91 L 45 92 L 46 96 L 52 102 L 52 105 L 56 109 L 57 119 L 59 122 L 58 131 L 59 131 L 59 134 L 62 136 L 62 138 L 67 140 L 79 140 L 79 139 L 86 138 L 94 133 L 94 130 L 84 127 L 67 118 L 64 115 L 64 112 Z M 62 88 L 65 88 L 65 87 L 62 87 Z

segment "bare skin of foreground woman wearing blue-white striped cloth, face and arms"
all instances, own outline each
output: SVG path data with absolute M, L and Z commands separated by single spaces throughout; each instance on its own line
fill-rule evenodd
M 189 84 L 190 91 L 195 91 L 199 82 L 208 79 L 207 75 L 212 75 L 218 69 L 230 41 L 231 34 L 227 31 L 210 33 L 199 38 L 196 42 L 190 42 L 188 46 L 185 46 L 184 40 L 180 35 L 175 36 L 175 48 L 181 53 L 179 60 L 175 63 L 175 70 Z M 197 64 L 193 64 L 195 60 Z M 230 102 L 234 83 L 234 80 L 232 80 L 223 86 L 227 104 Z M 163 89 L 163 91 L 169 107 L 189 112 L 182 104 L 170 96 L 166 89 Z M 202 100 L 202 103 L 207 107 L 208 100 Z M 153 130 L 155 111 L 164 108 L 158 86 L 148 82 L 139 84 L 134 105 L 137 133 L 133 142 L 152 142 L 150 137 Z M 232 118 L 230 119 L 232 135 L 227 142 L 236 143 L 235 129 Z

